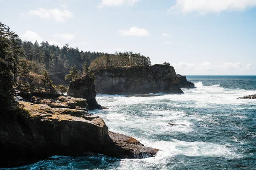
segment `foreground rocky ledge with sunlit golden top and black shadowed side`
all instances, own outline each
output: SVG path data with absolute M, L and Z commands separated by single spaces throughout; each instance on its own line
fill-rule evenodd
M 108 131 L 99 116 L 70 108 L 19 102 L 0 114 L 0 167 L 30 164 L 49 156 L 102 153 L 117 158 L 155 156 L 157 149 Z

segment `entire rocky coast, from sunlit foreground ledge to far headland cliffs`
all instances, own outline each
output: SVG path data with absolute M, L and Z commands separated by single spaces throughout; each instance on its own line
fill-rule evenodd
M 117 68 L 95 73 L 95 77 L 96 85 L 90 74 L 70 82 L 67 96 L 17 91 L 16 108 L 0 117 L 0 159 L 4 162 L 0 166 L 21 166 L 55 155 L 102 153 L 120 159 L 156 156 L 158 149 L 108 131 L 99 116 L 88 112 L 105 109 L 96 102 L 95 88 L 107 94 L 143 94 L 183 93 L 180 88 L 194 87 L 168 65 Z

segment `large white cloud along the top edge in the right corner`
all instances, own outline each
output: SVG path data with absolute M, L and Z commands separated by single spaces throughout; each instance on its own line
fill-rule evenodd
M 221 11 L 243 11 L 256 6 L 256 0 L 176 0 L 169 11 L 183 13 L 198 12 L 200 14 L 220 13 Z

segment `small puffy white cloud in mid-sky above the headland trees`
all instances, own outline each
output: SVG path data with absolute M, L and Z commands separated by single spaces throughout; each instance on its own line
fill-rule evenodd
M 149 36 L 148 30 L 145 28 L 138 28 L 138 27 L 131 27 L 129 30 L 121 29 L 118 31 L 119 34 L 122 36 L 137 36 L 137 37 L 144 37 Z

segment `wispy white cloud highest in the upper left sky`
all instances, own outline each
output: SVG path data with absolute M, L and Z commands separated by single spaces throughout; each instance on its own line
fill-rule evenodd
M 73 13 L 67 9 L 45 9 L 38 8 L 37 10 L 31 10 L 28 14 L 36 15 L 43 20 L 55 20 L 57 23 L 64 23 L 65 20 L 74 17 Z

